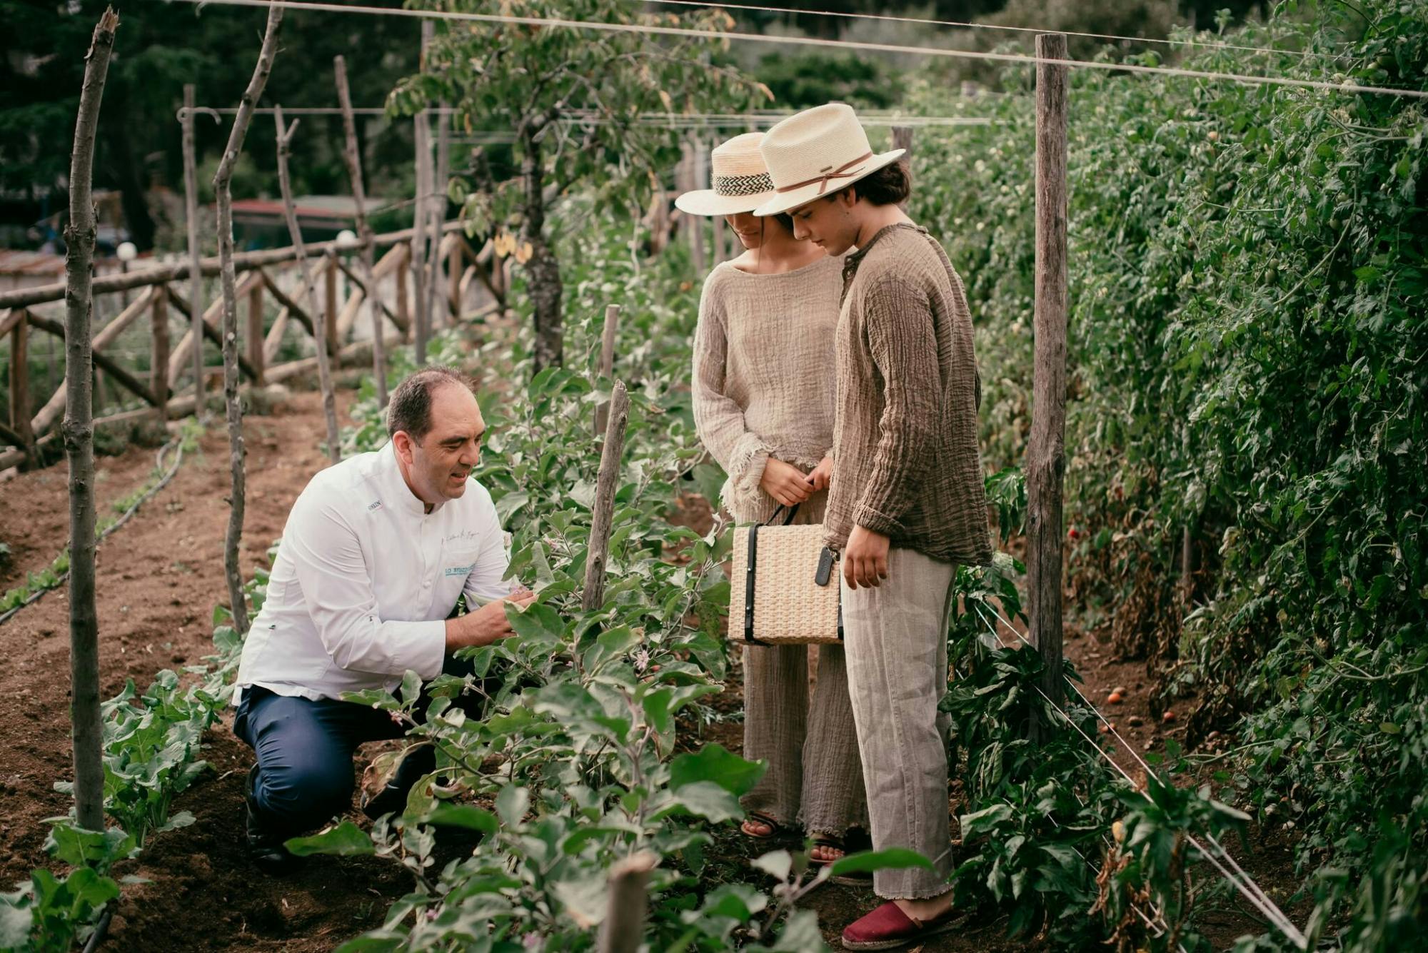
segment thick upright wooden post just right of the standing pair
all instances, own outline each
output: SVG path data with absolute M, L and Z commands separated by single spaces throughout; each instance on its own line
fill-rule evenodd
M 1062 33 L 1037 37 L 1037 56 L 1067 57 Z M 1061 484 L 1067 404 L 1067 67 L 1037 66 L 1037 263 L 1031 444 L 1027 451 L 1027 595 L 1041 688 L 1064 695 L 1061 666 Z M 1032 726 L 1040 735 L 1050 725 Z

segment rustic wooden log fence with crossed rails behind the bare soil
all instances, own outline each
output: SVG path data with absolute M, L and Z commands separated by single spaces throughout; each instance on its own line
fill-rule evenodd
M 410 228 L 376 235 L 378 253 L 386 250 L 373 268 L 373 287 L 380 301 L 380 307 L 394 332 L 384 334 L 383 338 L 393 344 L 411 340 L 413 315 L 417 308 L 416 282 L 411 281 L 411 237 Z M 291 377 L 316 370 L 317 358 L 274 364 L 283 347 L 284 335 L 290 324 L 301 328 L 308 338 L 313 337 L 316 322 L 311 308 L 326 308 L 327 318 L 327 352 L 336 362 L 356 364 L 370 355 L 370 340 L 354 340 L 353 330 L 357 324 L 357 314 L 366 300 L 364 282 L 358 278 L 351 255 L 360 254 L 360 247 L 353 244 L 338 244 L 337 241 L 313 243 L 306 247 L 313 277 L 320 278 L 317 285 L 324 294 L 316 302 L 306 301 L 304 281 L 290 282 L 284 288 L 284 271 L 296 270 L 296 248 L 271 248 L 263 251 L 248 251 L 234 255 L 234 265 L 238 272 L 237 295 L 243 302 L 240 331 L 238 367 L 243 378 L 256 385 L 266 385 L 288 379 Z M 437 251 L 437 263 L 446 265 L 446 274 L 440 274 L 437 267 L 436 278 L 441 294 L 438 302 L 444 301 L 444 311 L 450 321 L 463 317 L 471 318 L 506 307 L 507 272 L 504 260 L 496 255 L 491 243 L 476 251 L 461 233 L 460 223 L 447 223 L 443 227 L 441 243 Z M 201 271 L 206 277 L 218 274 L 218 260 L 204 258 Z M 347 278 L 347 295 L 343 300 L 338 294 L 340 277 Z M 94 334 L 94 370 L 103 374 L 113 385 L 143 401 L 146 408 L 111 414 L 94 421 L 100 424 L 114 424 L 126 419 L 137 419 L 143 415 L 154 415 L 159 419 L 183 417 L 194 411 L 194 395 L 177 394 L 177 384 L 187 374 L 191 384 L 193 377 L 193 330 L 188 330 L 170 345 L 170 330 L 173 327 L 170 315 L 177 312 L 191 322 L 190 302 L 184 297 L 188 281 L 188 263 L 180 261 L 164 264 L 157 268 L 141 271 L 127 271 L 94 278 L 93 298 L 100 295 L 124 295 L 124 304 L 119 314 L 99 328 Z M 464 311 L 464 302 L 471 301 L 473 287 L 477 285 L 488 304 L 474 312 Z M 139 294 L 129 300 L 129 294 L 139 290 Z M 277 305 L 276 318 L 267 322 L 267 298 Z M 60 342 L 64 340 L 61 321 L 37 314 L 39 305 L 63 302 L 64 284 L 47 284 L 11 291 L 0 291 L 0 340 L 10 341 L 10 374 L 9 374 L 9 421 L 0 421 L 0 469 L 14 465 L 34 464 L 41 459 L 40 449 L 47 444 L 59 441 L 57 424 L 64 415 L 64 382 L 54 389 L 50 398 L 39 408 L 31 408 L 30 362 L 31 337 L 36 331 L 53 335 Z M 437 314 L 441 312 L 438 305 Z M 203 314 L 203 334 L 221 348 L 218 327 L 221 324 L 223 298 L 214 295 Z M 147 379 L 141 379 L 141 372 L 134 372 L 124 367 L 116 357 L 106 352 L 114 345 L 117 338 L 144 317 L 149 318 L 149 367 Z M 433 315 L 433 325 L 438 320 Z M 220 365 L 204 365 L 204 378 L 221 374 Z M 204 392 L 213 394 L 214 388 L 206 382 Z

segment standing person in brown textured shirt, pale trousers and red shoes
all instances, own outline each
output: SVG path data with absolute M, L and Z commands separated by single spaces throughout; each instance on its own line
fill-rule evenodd
M 962 282 L 902 213 L 902 150 L 875 154 L 853 110 L 830 103 L 760 144 L 794 235 L 841 255 L 837 427 L 824 529 L 843 562 L 848 686 L 868 783 L 873 846 L 931 869 L 878 870 L 888 902 L 843 932 L 885 950 L 952 929 L 947 809 L 947 626 L 958 564 L 991 561 L 977 449 L 980 381 Z

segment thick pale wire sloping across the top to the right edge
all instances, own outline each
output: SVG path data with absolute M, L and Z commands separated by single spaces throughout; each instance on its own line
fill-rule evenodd
M 605 23 L 600 20 L 565 20 L 560 17 L 517 17 L 496 13 L 453 13 L 444 10 L 407 10 L 397 7 L 368 7 L 343 3 L 320 3 L 304 0 L 278 3 L 277 0 L 177 0 L 193 4 L 216 4 L 231 7 L 284 7 L 287 10 L 308 10 L 320 13 L 341 13 L 361 16 L 410 17 L 426 20 L 448 20 L 457 23 L 506 23 L 513 26 L 570 27 L 597 33 L 643 33 L 648 36 L 687 37 L 695 40 L 738 40 L 744 43 L 768 43 L 780 46 L 807 46 L 838 50 L 871 50 L 877 53 L 904 53 L 912 56 L 945 57 L 954 60 L 982 60 L 988 63 L 1014 63 L 1020 66 L 1064 66 L 1072 70 L 1102 70 L 1117 73 L 1142 73 L 1155 76 L 1177 76 L 1194 80 L 1230 81 L 1248 86 L 1281 86 L 1287 88 L 1318 90 L 1329 93 L 1372 93 L 1399 98 L 1428 100 L 1428 90 L 1404 90 L 1388 86 L 1364 86 L 1358 83 L 1325 83 L 1322 80 L 1295 80 L 1285 76 L 1251 76 L 1242 73 L 1220 73 L 1214 70 L 1184 70 L 1167 66 L 1141 66 L 1137 63 L 1107 63 L 1098 60 L 1060 60 L 1054 57 L 1028 56 L 1022 53 L 982 53 L 977 50 L 945 50 L 940 47 L 915 47 L 895 43 L 864 43 L 858 40 L 820 40 L 817 37 L 770 37 L 757 33 L 734 33 L 728 30 L 695 30 L 690 27 L 663 27 L 644 23 Z

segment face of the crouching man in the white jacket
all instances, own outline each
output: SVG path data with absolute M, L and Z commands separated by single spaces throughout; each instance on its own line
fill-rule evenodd
M 431 394 L 431 429 L 420 441 L 397 431 L 393 442 L 407 468 L 411 491 L 427 505 L 457 499 L 481 462 L 486 419 L 471 391 L 456 384 Z

